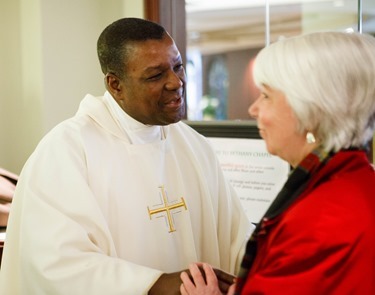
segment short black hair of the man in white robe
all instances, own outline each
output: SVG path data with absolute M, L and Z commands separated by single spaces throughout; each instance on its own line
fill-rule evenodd
M 100 34 L 97 53 L 104 75 L 113 73 L 123 78 L 126 60 L 129 54 L 127 45 L 147 40 L 161 40 L 167 34 L 159 24 L 140 18 L 122 18 Z

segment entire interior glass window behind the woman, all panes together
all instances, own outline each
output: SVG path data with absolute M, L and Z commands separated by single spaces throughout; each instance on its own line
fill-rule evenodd
M 374 0 L 186 0 L 188 119 L 249 120 L 258 51 L 302 33 L 360 31 L 359 7 L 374 34 Z

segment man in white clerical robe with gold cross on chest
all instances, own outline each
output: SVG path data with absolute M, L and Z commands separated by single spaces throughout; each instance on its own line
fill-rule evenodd
M 241 261 L 251 225 L 207 139 L 180 121 L 173 39 L 124 18 L 97 50 L 104 96 L 87 95 L 21 171 L 0 294 L 176 294 L 191 262 L 233 274 Z

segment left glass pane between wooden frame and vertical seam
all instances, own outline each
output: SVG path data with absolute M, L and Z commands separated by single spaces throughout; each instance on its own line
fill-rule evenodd
M 186 0 L 189 120 L 249 119 L 249 61 L 265 44 L 264 8 L 264 0 Z

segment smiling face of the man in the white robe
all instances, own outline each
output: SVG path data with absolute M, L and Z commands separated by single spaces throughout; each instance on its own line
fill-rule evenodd
M 169 35 L 134 42 L 128 51 L 124 78 L 109 90 L 121 108 L 147 125 L 168 125 L 185 115 L 185 69 Z

